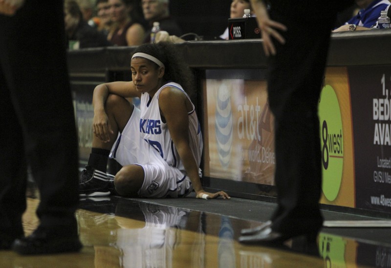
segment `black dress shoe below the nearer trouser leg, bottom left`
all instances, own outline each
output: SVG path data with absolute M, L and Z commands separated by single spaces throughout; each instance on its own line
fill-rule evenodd
M 67 228 L 39 226 L 30 236 L 17 239 L 12 249 L 20 254 L 53 254 L 78 252 L 82 248 L 77 232 Z

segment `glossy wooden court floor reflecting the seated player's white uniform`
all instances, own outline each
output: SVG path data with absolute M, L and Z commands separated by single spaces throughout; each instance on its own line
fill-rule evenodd
M 330 264 L 290 250 L 243 246 L 237 236 L 239 229 L 247 226 L 240 226 L 240 220 L 134 200 L 82 202 L 81 207 L 87 209 L 76 213 L 84 245 L 80 253 L 21 256 L 0 251 L 0 267 L 313 268 Z M 38 224 L 38 203 L 27 200 L 23 216 L 26 235 Z M 334 261 L 332 267 L 358 266 Z

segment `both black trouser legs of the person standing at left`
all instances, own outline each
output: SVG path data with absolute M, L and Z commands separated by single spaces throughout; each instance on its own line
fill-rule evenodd
M 23 235 L 27 163 L 48 239 L 56 232 L 78 237 L 78 145 L 62 1 L 26 0 L 15 16 L 0 15 L 0 67 L 0 246 Z

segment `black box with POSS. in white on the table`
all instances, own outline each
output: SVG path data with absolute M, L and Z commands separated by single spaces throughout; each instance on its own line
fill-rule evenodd
M 228 32 L 229 40 L 261 38 L 255 17 L 228 19 Z

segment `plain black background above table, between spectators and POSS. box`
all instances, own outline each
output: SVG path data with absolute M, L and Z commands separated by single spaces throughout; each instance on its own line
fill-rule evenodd
M 196 33 L 212 40 L 228 25 L 232 0 L 170 0 L 171 15 L 183 33 Z

